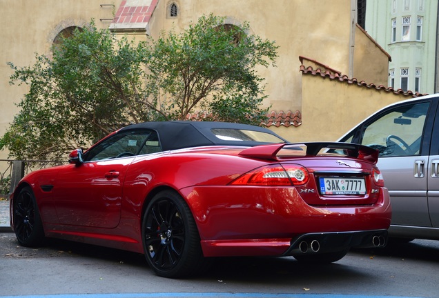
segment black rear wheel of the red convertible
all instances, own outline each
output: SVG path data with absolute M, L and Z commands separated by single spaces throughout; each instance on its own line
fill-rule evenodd
M 146 261 L 161 277 L 190 277 L 206 268 L 191 210 L 173 190 L 159 192 L 148 202 L 142 241 Z

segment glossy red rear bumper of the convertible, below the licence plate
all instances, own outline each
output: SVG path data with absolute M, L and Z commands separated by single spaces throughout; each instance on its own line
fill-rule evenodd
M 193 187 L 182 190 L 205 257 L 303 253 L 318 239 L 320 252 L 374 247 L 387 241 L 391 203 L 381 188 L 371 205 L 310 206 L 295 188 Z M 315 243 L 314 243 L 315 244 Z

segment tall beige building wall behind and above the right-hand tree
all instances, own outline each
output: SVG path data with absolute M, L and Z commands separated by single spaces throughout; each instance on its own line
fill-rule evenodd
M 177 19 L 166 18 L 166 8 L 175 2 L 181 8 Z M 329 13 L 332 12 L 332 13 Z M 160 30 L 182 30 L 202 14 L 227 17 L 238 25 L 248 21 L 251 33 L 275 41 L 277 68 L 260 70 L 266 78 L 266 104 L 273 110 L 300 110 L 302 105 L 299 56 L 328 64 L 347 73 L 351 8 L 349 0 L 161 0 L 150 20 L 150 34 Z

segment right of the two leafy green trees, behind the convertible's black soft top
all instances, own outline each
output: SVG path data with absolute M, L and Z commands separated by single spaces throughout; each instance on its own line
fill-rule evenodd
M 194 108 L 204 108 L 213 119 L 239 122 L 264 112 L 258 108 L 263 79 L 255 66 L 274 66 L 277 46 L 248 34 L 248 23 L 224 26 L 224 20 L 203 16 L 181 34 L 162 32 L 152 41 L 148 82 L 161 91 L 168 118 L 185 119 Z

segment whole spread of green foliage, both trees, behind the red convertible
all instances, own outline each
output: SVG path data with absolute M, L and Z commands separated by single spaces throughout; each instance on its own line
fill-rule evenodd
M 61 159 L 128 123 L 185 119 L 194 109 L 207 120 L 260 123 L 267 110 L 255 67 L 274 66 L 277 46 L 248 28 L 209 15 L 148 42 L 117 38 L 93 22 L 75 30 L 52 57 L 36 54 L 23 68 L 9 63 L 10 83 L 29 91 L 0 149 L 16 159 Z

